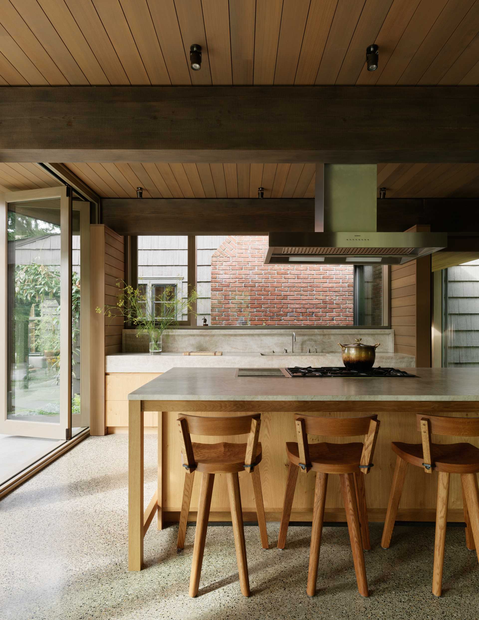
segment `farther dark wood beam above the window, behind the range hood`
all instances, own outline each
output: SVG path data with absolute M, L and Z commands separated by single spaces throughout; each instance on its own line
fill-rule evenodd
M 377 230 L 430 224 L 477 231 L 479 198 L 377 200 Z M 314 231 L 314 198 L 102 198 L 102 223 L 118 234 L 265 234 Z

